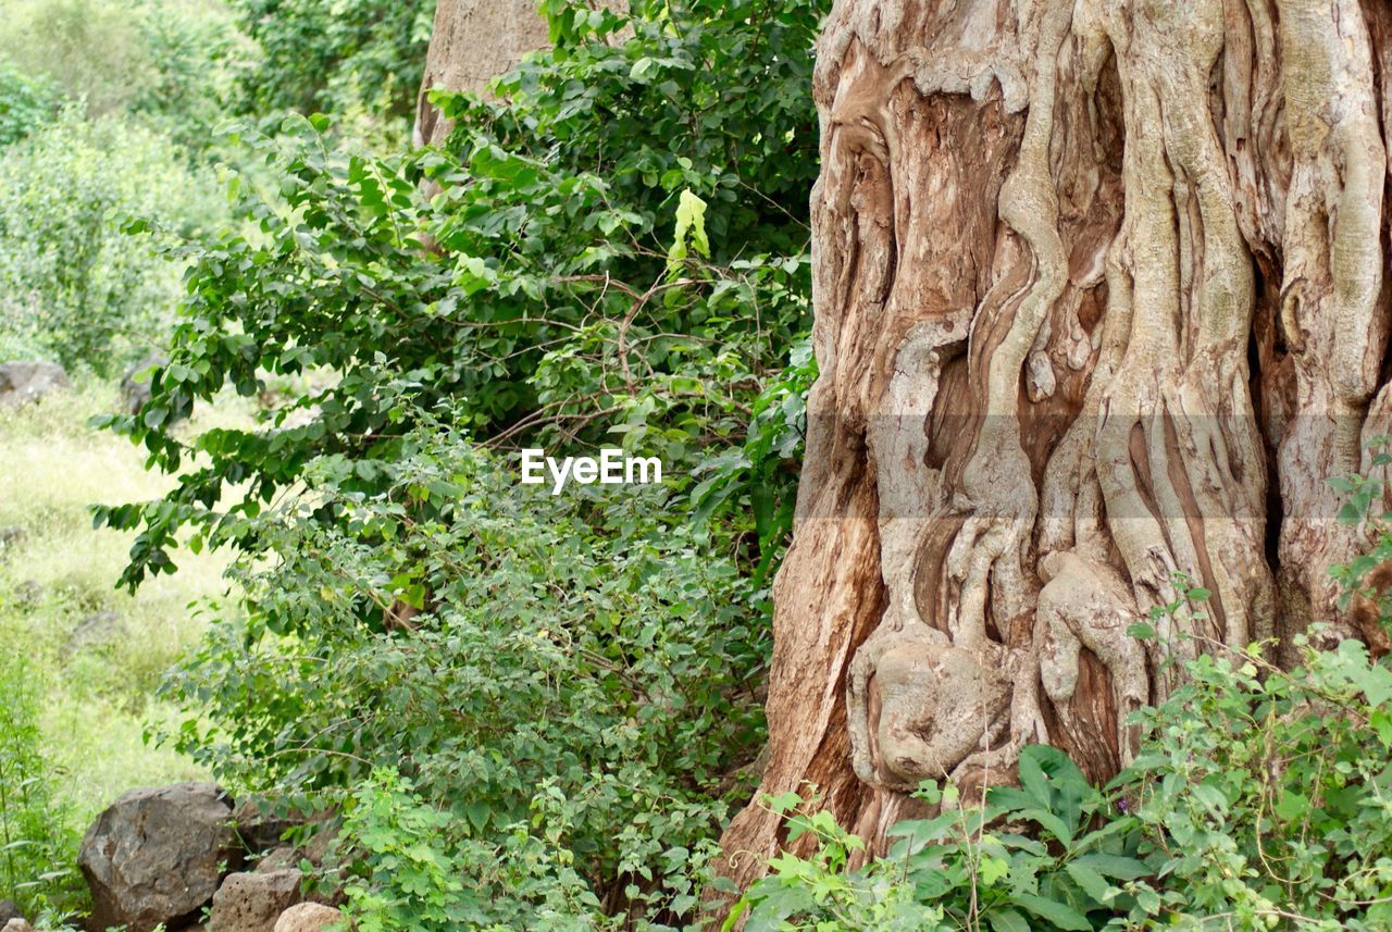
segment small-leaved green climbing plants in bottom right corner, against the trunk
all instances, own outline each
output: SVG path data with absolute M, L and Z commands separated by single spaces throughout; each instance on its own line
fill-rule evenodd
M 1373 465 L 1392 462 L 1375 441 Z M 1340 520 L 1364 524 L 1367 554 L 1331 568 L 1349 597 L 1392 558 L 1392 524 L 1374 511 L 1382 483 L 1331 480 Z M 1205 595 L 1205 593 L 1200 593 Z M 1382 601 L 1385 591 L 1367 590 Z M 1187 665 L 1187 683 L 1140 723 L 1147 750 L 1125 775 L 1137 818 L 1164 855 L 1173 924 L 1212 928 L 1385 929 L 1392 925 L 1392 666 L 1346 640 L 1296 638 L 1295 669 L 1268 645 Z

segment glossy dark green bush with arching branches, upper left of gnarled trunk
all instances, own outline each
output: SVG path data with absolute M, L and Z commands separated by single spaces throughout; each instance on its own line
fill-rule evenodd
M 114 421 L 168 472 L 209 458 L 163 502 L 99 512 L 142 529 L 124 581 L 171 568 L 189 523 L 214 543 L 252 544 L 238 517 L 313 456 L 388 455 L 381 433 L 443 399 L 490 444 L 621 434 L 683 476 L 710 448 L 742 442 L 752 405 L 807 326 L 802 216 L 814 164 L 803 156 L 817 8 L 729 0 L 650 14 L 626 42 L 601 40 L 621 25 L 611 14 L 564 26 L 571 45 L 500 82 L 507 103 L 443 100 L 459 121 L 444 150 L 335 152 L 319 135 L 323 117 L 287 121 L 278 143 L 248 135 L 281 179 L 278 199 L 242 189 L 262 235 L 198 252 L 174 364 L 141 419 Z M 767 121 L 764 136 L 750 128 L 757 145 L 731 135 L 750 125 L 739 96 L 749 88 Z M 444 186 L 430 206 L 415 195 L 422 175 Z M 664 243 L 683 193 L 706 203 L 711 259 L 688 256 L 672 277 Z M 447 252 L 423 252 L 427 235 Z M 280 412 L 315 410 L 308 426 L 192 444 L 167 435 L 171 419 L 226 384 L 253 394 L 262 373 L 316 369 L 344 377 Z M 763 466 L 789 462 L 793 447 L 766 451 L 757 474 L 731 470 L 745 485 L 707 509 L 739 523 L 750 498 L 780 502 L 760 509 L 764 555 L 781 543 L 767 529 L 786 527 L 795 476 Z M 214 511 L 242 481 L 246 502 Z M 351 481 L 380 488 L 367 476 Z

